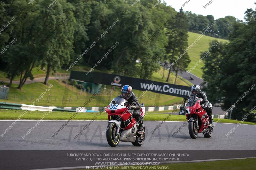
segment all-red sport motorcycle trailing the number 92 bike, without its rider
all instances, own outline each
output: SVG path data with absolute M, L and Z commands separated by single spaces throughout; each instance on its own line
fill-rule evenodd
M 202 98 L 192 96 L 185 107 L 188 121 L 188 131 L 192 139 L 196 139 L 198 133 L 203 133 L 204 137 L 211 137 L 214 126 L 209 123 L 206 111 L 201 107 Z

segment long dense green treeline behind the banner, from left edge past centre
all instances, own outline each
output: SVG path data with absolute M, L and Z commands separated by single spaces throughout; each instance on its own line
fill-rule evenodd
M 188 46 L 188 29 L 203 22 L 192 23 L 189 12 L 155 4 L 157 0 L 2 0 L 1 23 L 15 19 L 0 34 L 1 70 L 10 78 L 9 86 L 20 76 L 20 89 L 34 78 L 35 67 L 46 68 L 48 84 L 52 70 L 69 70 L 77 63 L 93 66 L 100 59 L 104 62 L 98 67 L 148 79 L 159 68 L 158 61 L 173 63 L 180 56 Z M 207 18 L 209 25 L 214 18 Z M 182 56 L 169 74 L 185 71 L 189 62 L 188 54 Z

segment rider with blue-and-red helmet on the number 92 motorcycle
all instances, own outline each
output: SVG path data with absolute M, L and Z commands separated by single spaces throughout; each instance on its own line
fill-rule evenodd
M 132 116 L 135 118 L 136 122 L 139 123 L 139 131 L 143 131 L 143 117 L 140 114 L 140 103 L 136 97 L 136 95 L 132 92 L 132 87 L 129 85 L 125 85 L 121 88 L 121 95 L 118 97 L 124 98 L 127 100 L 128 104 L 130 104 L 129 108 L 133 110 Z

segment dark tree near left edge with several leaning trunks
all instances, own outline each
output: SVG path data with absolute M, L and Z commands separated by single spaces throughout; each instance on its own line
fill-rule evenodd
M 38 61 L 38 55 L 32 54 L 32 49 L 34 46 L 36 47 L 36 41 L 40 37 L 38 36 L 39 28 L 35 20 L 36 15 L 38 15 L 38 11 L 36 11 L 38 6 L 36 3 L 29 5 L 23 0 L 8 2 L 4 7 L 6 11 L 10 12 L 10 15 L 15 18 L 19 17 L 19 19 L 15 19 L 15 29 L 8 36 L 8 42 L 15 40 L 15 43 L 6 52 L 7 58 L 4 58 L 5 61 L 12 60 L 12 62 L 7 63 L 5 70 L 10 77 L 8 86 L 11 86 L 15 76 L 20 75 L 18 88 L 21 89 L 27 78 L 33 79 L 31 71 Z M 16 55 L 13 53 L 14 51 L 16 51 Z M 17 54 L 19 58 L 17 58 Z M 20 63 L 19 67 L 17 67 L 18 63 L 14 61 Z

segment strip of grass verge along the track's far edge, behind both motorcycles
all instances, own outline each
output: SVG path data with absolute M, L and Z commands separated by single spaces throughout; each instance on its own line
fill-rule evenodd
M 25 110 L 7 110 L 0 109 L 0 120 L 16 120 Z M 37 120 L 40 119 L 43 115 L 45 116 L 44 120 L 68 120 L 68 118 L 73 115 L 74 112 L 42 112 L 42 111 L 28 111 L 23 117 L 22 120 Z M 96 116 L 95 120 L 108 120 L 106 112 L 102 113 L 78 113 L 73 120 L 92 120 L 92 117 Z M 147 113 L 144 120 L 145 121 L 162 121 L 167 117 L 167 114 L 160 113 Z M 168 121 L 186 121 L 185 116 L 183 115 L 171 115 Z M 215 121 L 217 119 L 214 119 Z M 238 123 L 236 120 L 221 119 L 220 123 Z M 243 122 L 242 124 L 256 125 L 251 122 Z

